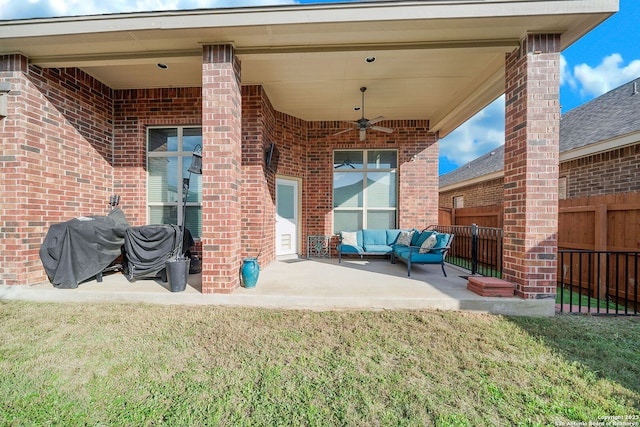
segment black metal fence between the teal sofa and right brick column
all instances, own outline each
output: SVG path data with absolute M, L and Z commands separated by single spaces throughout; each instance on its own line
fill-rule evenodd
M 502 277 L 502 229 L 472 225 L 433 225 L 439 233 L 454 234 L 446 261 L 471 274 Z

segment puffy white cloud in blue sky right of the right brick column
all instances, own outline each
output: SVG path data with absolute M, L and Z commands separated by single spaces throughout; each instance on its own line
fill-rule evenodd
M 595 68 L 582 63 L 573 68 L 573 79 L 578 83 L 582 97 L 597 97 L 618 86 L 640 77 L 640 60 L 624 65 L 622 55 L 611 54 Z

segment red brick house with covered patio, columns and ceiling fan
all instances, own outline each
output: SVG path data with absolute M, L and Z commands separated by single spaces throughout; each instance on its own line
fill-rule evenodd
M 438 139 L 505 93 L 505 278 L 552 297 L 559 55 L 617 10 L 445 0 L 0 22 L 0 284 L 46 280 L 48 227 L 111 194 L 131 225 L 176 222 L 197 144 L 186 225 L 203 293 L 233 292 L 243 257 L 266 266 L 309 235 L 434 223 Z M 360 87 L 392 133 L 345 123 Z

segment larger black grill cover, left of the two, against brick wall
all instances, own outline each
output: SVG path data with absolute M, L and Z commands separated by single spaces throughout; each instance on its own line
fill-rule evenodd
M 77 288 L 95 277 L 122 253 L 129 228 L 119 208 L 107 216 L 75 218 L 49 228 L 40 260 L 53 286 Z

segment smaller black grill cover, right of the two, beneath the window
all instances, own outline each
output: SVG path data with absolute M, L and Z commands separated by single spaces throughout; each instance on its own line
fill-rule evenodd
M 124 270 L 131 279 L 162 277 L 165 262 L 175 258 L 180 239 L 177 225 L 143 225 L 127 229 L 124 237 Z M 189 230 L 185 230 L 183 254 L 194 245 Z

